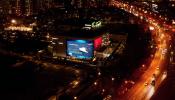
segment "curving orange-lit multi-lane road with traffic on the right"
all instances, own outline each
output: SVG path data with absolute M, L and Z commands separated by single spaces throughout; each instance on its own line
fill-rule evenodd
M 166 78 L 165 66 L 167 63 L 167 51 L 169 50 L 170 44 L 169 33 L 165 31 L 168 26 L 165 24 L 167 18 L 163 18 L 161 15 L 154 14 L 154 12 L 147 11 L 143 8 L 130 5 L 129 3 L 112 0 L 111 5 L 132 13 L 140 18 L 140 20 L 146 20 L 152 32 L 152 38 L 157 43 L 154 58 L 152 59 L 148 69 L 139 77 L 138 81 L 135 82 L 135 85 L 129 89 L 128 92 L 114 99 L 149 100 L 157 88 L 161 85 L 162 81 Z M 156 16 L 161 16 L 161 19 L 157 19 Z M 155 76 L 153 74 L 155 74 Z M 153 80 L 155 80 L 155 85 L 151 84 Z

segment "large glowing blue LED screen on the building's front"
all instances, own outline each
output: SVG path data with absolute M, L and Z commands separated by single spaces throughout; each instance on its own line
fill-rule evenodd
M 91 59 L 93 57 L 94 45 L 89 40 L 68 40 L 67 55 L 78 59 Z

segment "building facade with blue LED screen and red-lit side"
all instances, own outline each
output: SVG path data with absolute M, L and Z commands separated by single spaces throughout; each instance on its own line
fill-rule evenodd
M 53 54 L 53 57 L 67 58 L 70 60 L 92 60 L 95 57 L 96 51 L 101 47 L 109 45 L 106 44 L 106 40 L 110 39 L 104 37 L 108 37 L 108 34 L 99 34 L 91 38 L 68 37 L 64 35 L 53 36 L 50 40 L 51 44 L 48 46 L 48 50 Z M 108 41 L 108 43 L 110 42 Z

